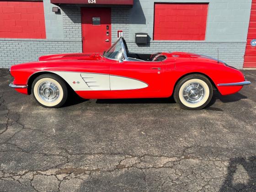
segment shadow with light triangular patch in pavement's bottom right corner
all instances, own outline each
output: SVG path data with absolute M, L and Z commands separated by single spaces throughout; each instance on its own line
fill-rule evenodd
M 220 192 L 256 191 L 256 156 L 230 159 L 227 171 Z

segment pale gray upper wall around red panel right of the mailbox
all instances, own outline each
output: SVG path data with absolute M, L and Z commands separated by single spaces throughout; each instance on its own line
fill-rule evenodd
M 135 32 L 149 33 L 153 39 L 154 3 L 209 3 L 206 41 L 246 41 L 251 0 L 134 0 L 130 13 L 129 41 Z

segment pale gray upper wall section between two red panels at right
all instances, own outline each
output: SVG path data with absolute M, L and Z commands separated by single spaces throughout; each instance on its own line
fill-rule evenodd
M 246 41 L 251 0 L 210 0 L 207 41 Z

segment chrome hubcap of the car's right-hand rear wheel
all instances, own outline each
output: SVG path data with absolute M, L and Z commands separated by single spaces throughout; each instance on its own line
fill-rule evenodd
M 198 103 L 204 95 L 205 89 L 200 83 L 190 83 L 183 89 L 183 98 L 188 103 Z

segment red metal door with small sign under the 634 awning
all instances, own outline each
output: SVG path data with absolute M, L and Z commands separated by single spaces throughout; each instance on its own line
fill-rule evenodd
M 83 53 L 102 53 L 111 46 L 111 9 L 81 8 Z

